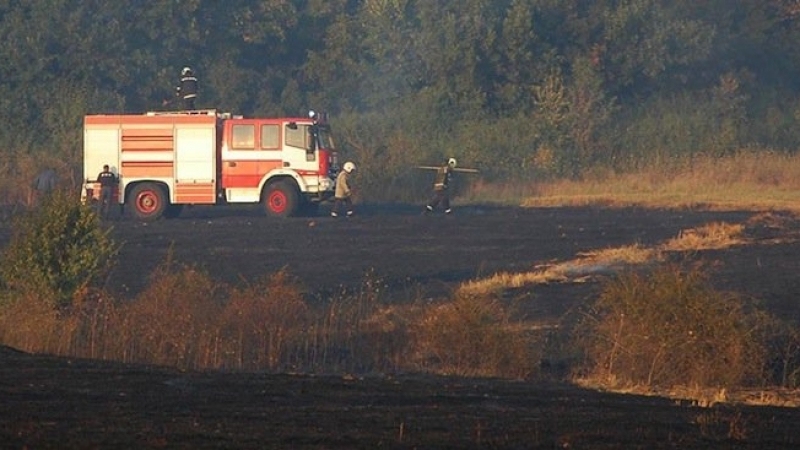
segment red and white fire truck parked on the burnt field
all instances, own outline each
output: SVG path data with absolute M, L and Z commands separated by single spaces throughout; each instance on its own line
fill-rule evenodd
M 249 119 L 216 110 L 84 118 L 83 198 L 99 197 L 108 164 L 115 202 L 140 220 L 175 217 L 184 205 L 259 203 L 297 215 L 332 197 L 339 169 L 330 127 L 309 117 Z

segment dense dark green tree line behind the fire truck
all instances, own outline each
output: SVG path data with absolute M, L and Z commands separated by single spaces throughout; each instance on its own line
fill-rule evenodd
M 0 37 L 0 152 L 74 170 L 85 114 L 168 108 L 187 65 L 201 108 L 327 111 L 381 178 L 451 154 L 531 179 L 800 143 L 792 0 L 3 1 Z

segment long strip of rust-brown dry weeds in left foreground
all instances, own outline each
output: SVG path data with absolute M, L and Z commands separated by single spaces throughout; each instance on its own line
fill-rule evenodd
M 285 271 L 232 288 L 167 262 L 134 299 L 91 292 L 62 310 L 38 298 L 4 299 L 0 343 L 182 370 L 506 378 L 533 372 L 531 333 L 498 301 L 387 305 L 383 292 L 367 274 L 360 289 L 312 305 Z

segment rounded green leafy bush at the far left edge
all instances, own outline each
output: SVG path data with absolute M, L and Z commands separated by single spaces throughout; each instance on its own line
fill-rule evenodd
M 91 208 L 55 191 L 15 220 L 0 261 L 2 289 L 57 310 L 72 306 L 107 275 L 119 250 L 109 233 Z

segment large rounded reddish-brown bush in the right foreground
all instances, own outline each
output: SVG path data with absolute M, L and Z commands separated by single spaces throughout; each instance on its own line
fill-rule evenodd
M 601 382 L 729 388 L 763 380 L 763 317 L 699 268 L 669 265 L 605 282 L 579 339 Z

